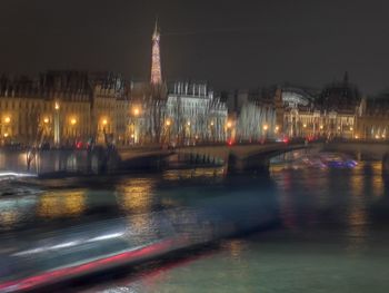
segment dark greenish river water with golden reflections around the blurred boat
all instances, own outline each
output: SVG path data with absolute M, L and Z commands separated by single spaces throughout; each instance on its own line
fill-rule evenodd
M 240 189 L 253 186 L 258 196 L 275 199 L 273 225 L 74 283 L 70 291 L 388 292 L 389 187 L 380 168 L 378 162 L 355 168 L 277 164 L 269 177 L 238 178 L 237 201 Z M 223 185 L 222 174 L 220 168 L 2 182 L 0 229 L 54 229 L 190 205 L 220 196 L 211 187 Z M 150 225 L 147 217 L 139 221 Z

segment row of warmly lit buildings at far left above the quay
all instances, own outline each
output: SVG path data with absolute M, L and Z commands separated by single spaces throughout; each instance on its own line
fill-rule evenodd
M 122 79 L 108 74 L 48 71 L 36 80 L 0 79 L 2 144 L 104 143 L 100 139 L 104 120 L 106 133 L 123 143 L 127 109 Z

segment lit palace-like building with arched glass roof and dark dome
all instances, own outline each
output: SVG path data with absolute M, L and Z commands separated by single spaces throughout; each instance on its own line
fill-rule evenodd
M 285 107 L 283 133 L 289 137 L 353 138 L 361 97 L 356 86 L 343 81 L 321 92 L 301 87 L 280 87 Z

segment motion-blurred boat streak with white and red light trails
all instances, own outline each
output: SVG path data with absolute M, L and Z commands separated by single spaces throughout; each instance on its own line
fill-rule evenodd
M 66 229 L 2 236 L 0 292 L 39 289 L 118 265 L 251 232 L 278 221 L 273 196 L 257 189 Z M 229 194 L 228 194 L 229 193 Z

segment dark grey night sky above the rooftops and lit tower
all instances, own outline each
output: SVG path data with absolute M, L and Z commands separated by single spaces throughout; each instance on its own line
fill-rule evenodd
M 1 0 L 0 71 L 110 70 L 149 78 L 159 16 L 164 78 L 217 89 L 321 87 L 346 70 L 389 86 L 389 1 Z

